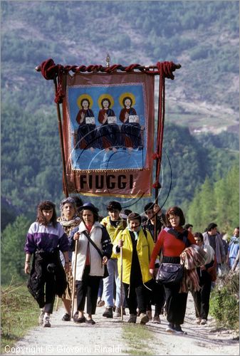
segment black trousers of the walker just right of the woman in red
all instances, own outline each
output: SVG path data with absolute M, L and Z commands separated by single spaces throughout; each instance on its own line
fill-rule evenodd
M 194 298 L 195 313 L 197 318 L 206 319 L 209 315 L 209 299 L 212 286 L 212 277 L 207 271 L 200 271 L 198 292 L 192 292 Z

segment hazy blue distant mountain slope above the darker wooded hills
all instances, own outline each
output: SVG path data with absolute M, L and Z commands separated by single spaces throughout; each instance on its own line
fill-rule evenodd
M 1 12 L 4 101 L 53 105 L 52 83 L 34 70 L 47 58 L 174 61 L 182 68 L 167 80 L 166 120 L 193 134 L 239 132 L 238 1 L 1 1 Z

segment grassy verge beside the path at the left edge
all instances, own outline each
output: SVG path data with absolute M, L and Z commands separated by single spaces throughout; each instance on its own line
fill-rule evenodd
M 1 355 L 14 346 L 28 329 L 38 325 L 39 308 L 26 282 L 1 286 Z

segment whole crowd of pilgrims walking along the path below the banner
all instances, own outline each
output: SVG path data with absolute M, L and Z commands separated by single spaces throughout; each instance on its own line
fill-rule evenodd
M 58 218 L 53 202 L 38 204 L 26 236 L 24 269 L 40 308 L 39 325 L 51 327 L 57 295 L 66 322 L 73 318 L 94 325 L 97 306 L 105 305 L 104 318 L 120 318 L 128 309 L 128 323 L 137 323 L 137 318 L 143 325 L 161 323 L 165 313 L 166 331 L 182 334 L 189 291 L 196 323 L 205 325 L 216 276 L 239 268 L 239 227 L 224 244 L 215 223 L 203 234 L 194 232 L 179 206 L 163 214 L 150 202 L 141 216 L 109 201 L 106 211 L 100 216 L 96 206 L 83 204 L 78 196 L 61 201 Z M 160 278 L 162 266 L 168 277 L 177 271 L 171 281 Z

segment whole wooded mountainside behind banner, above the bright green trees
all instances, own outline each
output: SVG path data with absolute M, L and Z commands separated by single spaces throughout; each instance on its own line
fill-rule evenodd
M 34 69 L 47 58 L 181 63 L 166 83 L 165 208 L 187 208 L 206 177 L 215 184 L 239 160 L 238 1 L 1 1 L 1 25 L 1 195 L 10 203 L 2 227 L 63 197 L 53 83 Z M 93 198 L 102 214 L 107 200 Z

